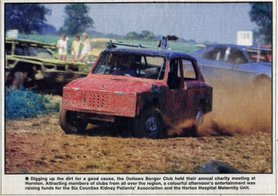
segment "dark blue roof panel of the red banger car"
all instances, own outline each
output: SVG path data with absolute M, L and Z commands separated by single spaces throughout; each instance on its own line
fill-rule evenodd
M 125 53 L 125 54 L 139 54 L 147 56 L 163 56 L 167 59 L 169 58 L 191 58 L 196 60 L 193 56 L 185 54 L 181 51 L 172 51 L 169 49 L 149 49 L 149 48 L 136 48 L 136 47 L 117 47 L 112 49 L 105 49 L 103 52 L 115 52 L 115 53 Z

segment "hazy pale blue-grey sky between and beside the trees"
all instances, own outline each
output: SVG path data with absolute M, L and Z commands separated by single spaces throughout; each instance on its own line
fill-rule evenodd
M 63 26 L 66 4 L 44 4 L 52 10 L 47 23 Z M 197 42 L 236 43 L 237 31 L 257 28 L 249 3 L 86 3 L 94 30 L 126 35 L 152 31 Z

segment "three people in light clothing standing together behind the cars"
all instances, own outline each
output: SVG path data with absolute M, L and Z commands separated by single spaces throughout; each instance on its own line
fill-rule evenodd
M 72 42 L 72 47 L 70 49 L 71 54 L 72 54 L 72 60 L 74 62 L 79 62 L 83 63 L 83 59 L 87 55 L 88 51 L 92 50 L 91 47 L 91 42 L 89 39 L 88 33 L 82 33 L 83 41 L 80 40 L 79 35 L 74 36 L 74 41 Z M 67 42 L 69 38 L 65 34 L 61 35 L 60 40 L 58 40 L 56 47 L 58 48 L 58 55 L 60 60 L 67 60 Z M 83 45 L 83 48 L 81 50 L 80 56 L 79 52 L 81 49 L 81 44 Z

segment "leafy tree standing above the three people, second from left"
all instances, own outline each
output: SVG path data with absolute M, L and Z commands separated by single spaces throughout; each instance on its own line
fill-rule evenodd
M 89 8 L 85 3 L 74 3 L 65 6 L 65 22 L 60 32 L 75 35 L 93 28 L 94 21 L 88 16 Z

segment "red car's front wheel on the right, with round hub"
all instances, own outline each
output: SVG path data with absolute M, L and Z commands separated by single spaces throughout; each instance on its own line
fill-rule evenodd
M 134 136 L 137 138 L 161 138 L 163 136 L 163 115 L 158 108 L 143 109 L 134 122 Z

